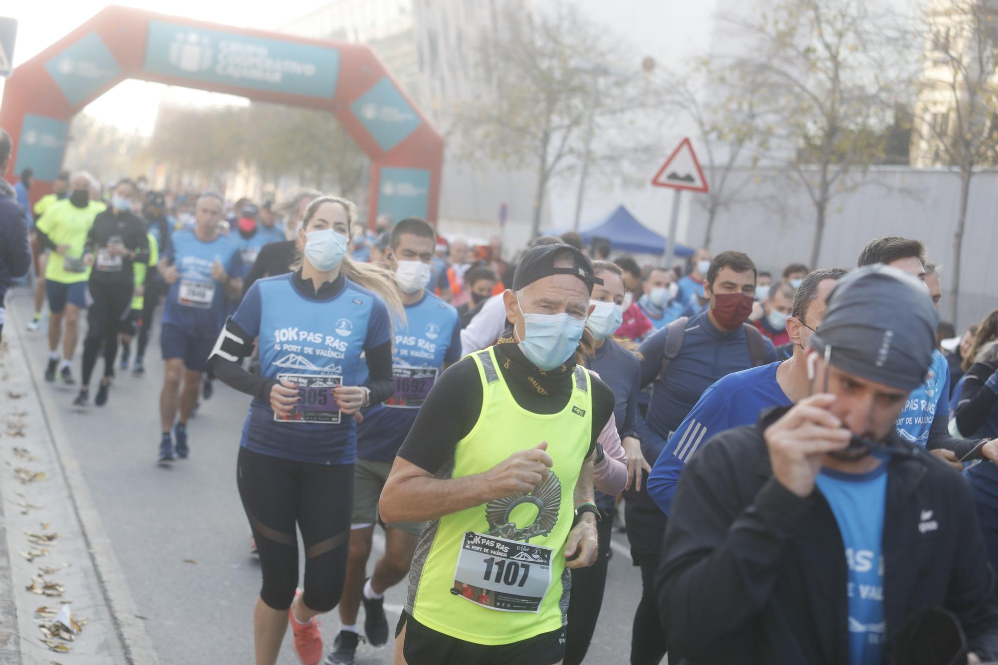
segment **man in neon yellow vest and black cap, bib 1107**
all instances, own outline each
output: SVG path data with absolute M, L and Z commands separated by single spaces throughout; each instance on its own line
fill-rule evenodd
M 420 408 L 379 504 L 389 523 L 431 522 L 396 665 L 562 660 L 566 568 L 596 559 L 591 456 L 614 407 L 575 362 L 580 340 L 592 344 L 597 283 L 574 248 L 527 251 L 504 295 L 513 328 L 444 372 Z

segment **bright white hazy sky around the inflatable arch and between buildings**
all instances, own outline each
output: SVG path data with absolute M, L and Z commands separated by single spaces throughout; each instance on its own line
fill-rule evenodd
M 138 7 L 204 21 L 241 27 L 279 26 L 329 0 L 282 0 L 279 3 L 246 0 L 121 0 L 116 4 Z M 496 0 L 501 4 L 502 0 Z M 534 0 L 535 6 L 560 0 Z M 713 25 L 717 0 L 570 0 L 592 20 L 626 41 L 640 56 L 651 55 L 659 63 L 677 62 L 685 55 L 705 50 Z M 107 6 L 104 0 L 59 3 L 53 11 L 48 2 L 4 3 L 0 14 L 19 22 L 14 64 L 18 65 L 48 47 Z M 637 66 L 638 63 L 634 63 Z M 2 93 L 3 79 L 0 79 Z M 86 112 L 123 129 L 152 130 L 156 110 L 166 94 L 161 84 L 125 81 L 95 100 Z M 171 89 L 171 98 L 206 103 L 222 96 L 202 91 Z M 215 101 L 221 101 L 216 99 Z

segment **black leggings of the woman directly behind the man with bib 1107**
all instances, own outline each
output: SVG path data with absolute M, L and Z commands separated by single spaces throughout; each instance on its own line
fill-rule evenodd
M 607 586 L 610 565 L 610 538 L 614 529 L 614 513 L 600 511 L 603 519 L 596 525 L 600 553 L 596 563 L 572 571 L 572 593 L 568 604 L 568 641 L 565 644 L 564 665 L 579 665 L 589 651 L 596 631 L 596 621 L 603 607 L 603 590 Z

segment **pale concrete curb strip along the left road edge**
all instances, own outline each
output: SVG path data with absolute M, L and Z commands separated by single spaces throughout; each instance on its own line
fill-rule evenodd
M 115 556 L 114 549 L 104 529 L 100 513 L 94 505 L 90 489 L 87 487 L 87 482 L 80 471 L 76 457 L 67 445 L 67 433 L 63 429 L 60 419 L 51 416 L 58 410 L 52 395 L 48 390 L 40 389 L 43 386 L 39 385 L 37 377 L 41 375 L 41 369 L 35 366 L 31 354 L 27 352 L 28 346 L 23 339 L 24 323 L 18 317 L 16 308 L 7 308 L 7 317 L 8 325 L 4 328 L 18 337 L 24 361 L 28 366 L 31 386 L 35 394 L 38 395 L 42 419 L 52 438 L 60 470 L 69 488 L 73 512 L 79 520 L 91 564 L 97 575 L 101 594 L 104 596 L 111 619 L 114 622 L 115 633 L 121 643 L 126 662 L 134 665 L 159 665 L 160 660 L 153 649 L 152 640 L 146 632 L 143 620 L 138 618 L 139 613 L 135 601 L 132 599 L 121 564 Z M 0 561 L 0 565 L 2 565 L 2 561 Z M 0 594 L 3 594 L 3 591 L 4 589 L 0 586 Z M 2 597 L 3 595 L 0 595 L 0 598 Z M 0 643 L 0 648 L 2 648 L 2 643 Z M 0 651 L 0 656 L 3 656 L 2 651 Z M 7 661 L 0 660 L 0 662 L 6 663 Z

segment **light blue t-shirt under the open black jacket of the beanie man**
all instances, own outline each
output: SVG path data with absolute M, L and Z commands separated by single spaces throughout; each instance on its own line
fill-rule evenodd
M 887 463 L 866 473 L 822 468 L 818 489 L 838 522 L 848 564 L 849 665 L 879 665 L 883 618 L 883 509 Z

